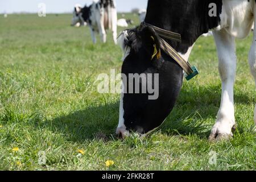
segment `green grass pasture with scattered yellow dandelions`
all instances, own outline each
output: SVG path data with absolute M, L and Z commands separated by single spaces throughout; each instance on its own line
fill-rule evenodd
M 69 26 L 71 16 L 0 16 L 1 170 L 256 169 L 255 87 L 247 64 L 252 35 L 237 41 L 233 139 L 208 141 L 221 97 L 208 37 L 197 41 L 190 59 L 201 73 L 184 81 L 164 125 L 147 138 L 119 140 L 119 94 L 98 93 L 95 81 L 100 73 L 120 71 L 121 49 L 110 34 L 108 43 L 93 45 L 88 27 Z M 106 160 L 114 164 L 107 167 Z

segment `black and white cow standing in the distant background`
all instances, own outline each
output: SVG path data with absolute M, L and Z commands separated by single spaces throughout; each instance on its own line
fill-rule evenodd
M 82 9 L 75 7 L 72 25 L 86 22 L 91 31 L 93 43 L 96 43 L 96 32 L 100 33 L 102 42 L 106 42 L 106 30 L 111 30 L 114 43 L 117 44 L 117 9 L 115 0 L 94 0 L 92 5 Z

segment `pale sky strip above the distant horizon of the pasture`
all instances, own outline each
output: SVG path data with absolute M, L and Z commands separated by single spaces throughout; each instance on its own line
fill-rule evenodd
M 147 0 L 115 0 L 118 12 L 133 8 L 146 9 Z M 0 0 L 0 13 L 37 13 L 39 3 L 46 4 L 46 13 L 71 13 L 76 3 L 84 6 L 92 0 Z

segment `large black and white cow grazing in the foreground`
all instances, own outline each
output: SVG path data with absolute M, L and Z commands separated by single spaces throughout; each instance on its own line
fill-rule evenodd
M 216 42 L 219 71 L 222 81 L 221 105 L 210 140 L 232 136 L 236 122 L 234 117 L 233 87 L 236 76 L 236 38 L 245 38 L 255 22 L 256 0 L 148 0 L 145 22 L 181 35 L 181 42 L 166 42 L 188 60 L 189 54 L 200 35 L 213 30 Z M 213 8 L 212 8 L 213 7 Z M 255 27 L 254 23 L 254 27 Z M 138 28 L 121 33 L 118 42 L 124 53 L 123 80 L 117 134 L 122 137 L 130 131 L 146 135 L 159 127 L 172 111 L 183 84 L 183 69 L 159 46 L 160 38 L 152 26 L 145 23 Z M 163 40 L 161 39 L 161 40 Z M 256 32 L 249 53 L 251 73 L 256 84 Z M 161 49 L 160 49 L 161 48 Z M 160 50 L 160 51 L 159 51 Z M 156 55 L 156 56 L 155 56 Z M 159 74 L 159 97 L 148 100 L 150 92 L 125 92 L 133 77 L 129 74 Z M 149 77 L 149 76 L 148 76 Z M 128 84 L 129 83 L 129 84 Z M 140 80 L 142 86 L 143 80 Z M 133 87 L 131 88 L 133 91 Z M 256 123 L 256 106 L 254 121 Z

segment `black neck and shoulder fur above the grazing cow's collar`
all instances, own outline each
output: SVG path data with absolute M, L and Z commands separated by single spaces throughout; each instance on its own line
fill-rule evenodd
M 217 5 L 217 16 L 209 16 L 209 4 Z M 185 53 L 200 35 L 220 24 L 222 0 L 148 1 L 145 22 L 181 34 L 182 43 L 167 40 L 176 51 Z

